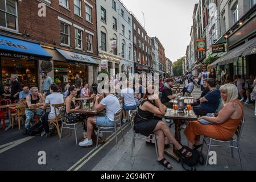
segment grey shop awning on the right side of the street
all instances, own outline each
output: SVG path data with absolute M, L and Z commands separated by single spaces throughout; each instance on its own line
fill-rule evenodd
M 228 53 L 226 53 L 224 56 L 220 57 L 220 59 L 217 59 L 214 61 L 214 63 L 210 64 L 208 68 L 213 68 L 216 65 L 226 65 L 233 63 L 234 61 L 237 61 L 238 57 L 240 56 L 247 56 L 256 53 L 256 38 L 249 40 L 248 42 L 242 44 L 241 46 L 238 46 Z

